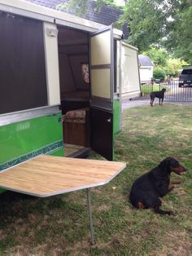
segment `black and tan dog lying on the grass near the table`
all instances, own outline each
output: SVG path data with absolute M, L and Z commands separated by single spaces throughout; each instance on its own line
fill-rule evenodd
M 167 157 L 154 169 L 136 179 L 130 192 L 130 201 L 136 208 L 152 208 L 157 214 L 173 214 L 172 211 L 160 210 L 159 197 L 165 196 L 172 190 L 169 185 L 181 183 L 181 180 L 170 181 L 171 172 L 180 174 L 186 169 L 173 157 Z

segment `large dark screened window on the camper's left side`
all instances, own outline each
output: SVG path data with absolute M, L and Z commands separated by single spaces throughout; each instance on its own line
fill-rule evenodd
M 42 23 L 0 12 L 0 114 L 47 105 Z

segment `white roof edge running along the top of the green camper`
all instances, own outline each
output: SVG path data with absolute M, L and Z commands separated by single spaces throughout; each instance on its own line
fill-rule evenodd
M 0 0 L 0 11 L 7 11 L 17 15 L 24 15 L 37 20 L 45 20 L 56 24 L 63 24 L 68 27 L 84 29 L 89 32 L 94 32 L 106 27 L 103 24 L 98 24 L 91 20 L 85 20 L 75 15 L 56 11 L 48 7 L 42 7 L 23 0 Z

